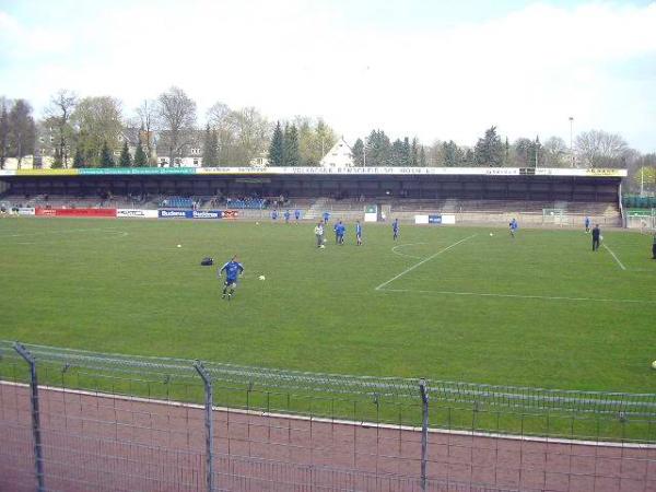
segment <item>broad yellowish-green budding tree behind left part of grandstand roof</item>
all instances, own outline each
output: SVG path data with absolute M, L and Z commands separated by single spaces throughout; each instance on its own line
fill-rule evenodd
M 72 121 L 80 129 L 78 147 L 84 152 L 86 164 L 101 165 L 103 145 L 118 149 L 122 131 L 120 103 L 109 96 L 84 97 L 75 107 Z

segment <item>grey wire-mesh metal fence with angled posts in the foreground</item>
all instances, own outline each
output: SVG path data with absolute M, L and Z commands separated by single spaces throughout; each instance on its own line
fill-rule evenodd
M 656 395 L 0 341 L 0 491 L 655 491 Z

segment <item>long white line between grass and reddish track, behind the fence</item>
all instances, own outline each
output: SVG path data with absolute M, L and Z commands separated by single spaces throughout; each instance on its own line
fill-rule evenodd
M 10 380 L 0 380 L 0 385 L 7 386 L 16 386 L 20 388 L 30 388 L 28 384 L 25 383 L 14 383 Z M 55 386 L 38 386 L 39 389 L 45 389 L 47 391 L 54 393 L 63 393 L 71 395 L 80 395 L 80 396 L 90 396 L 95 398 L 105 398 L 105 399 L 121 399 L 125 401 L 134 401 L 138 403 L 153 403 L 153 405 L 163 405 L 168 407 L 178 407 L 178 408 L 194 408 L 198 410 L 203 410 L 204 405 L 198 403 L 186 403 L 184 401 L 173 401 L 173 400 L 157 400 L 151 398 L 141 398 L 134 396 L 125 396 L 125 395 L 112 395 L 108 393 L 99 393 L 99 391 L 85 391 L 82 389 L 69 389 L 69 388 L 58 388 Z M 239 413 L 243 415 L 255 415 L 255 417 L 267 417 L 271 419 L 288 419 L 288 420 L 298 420 L 298 421 L 308 421 L 308 422 L 321 422 L 321 423 L 330 423 L 330 424 L 341 424 L 341 425 L 353 425 L 353 426 L 362 426 L 362 427 L 374 427 L 374 429 L 390 429 L 394 431 L 409 431 L 409 432 L 421 432 L 421 427 L 413 427 L 411 425 L 394 425 L 394 424 L 385 424 L 385 423 L 376 423 L 376 422 L 366 422 L 366 421 L 353 421 L 353 420 L 343 420 L 343 419 L 329 419 L 325 417 L 308 417 L 308 415 L 298 415 L 294 413 L 277 413 L 277 412 L 262 412 L 257 410 L 244 410 L 244 409 L 234 409 L 230 407 L 215 407 L 212 406 L 213 411 L 225 412 L 225 413 Z M 574 445 L 583 445 L 583 446 L 595 446 L 595 447 L 626 447 L 626 448 L 636 448 L 636 449 L 656 449 L 656 444 L 642 444 L 642 443 L 616 443 L 612 441 L 576 441 L 576 440 L 565 440 L 560 437 L 538 437 L 538 436 L 526 436 L 526 435 L 515 435 L 515 434 L 501 434 L 496 432 L 476 432 L 476 431 L 454 431 L 449 429 L 431 429 L 429 427 L 429 432 L 432 434 L 450 434 L 450 435 L 465 435 L 465 436 L 476 436 L 476 437 L 491 437 L 491 438 L 500 438 L 500 440 L 508 440 L 508 441 L 530 441 L 535 443 L 554 443 L 554 444 L 574 444 Z

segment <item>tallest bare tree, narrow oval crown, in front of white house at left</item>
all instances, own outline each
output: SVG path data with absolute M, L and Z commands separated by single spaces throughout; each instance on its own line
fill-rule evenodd
M 179 87 L 171 87 L 160 95 L 157 113 L 161 118 L 163 138 L 168 150 L 169 165 L 189 142 L 196 125 L 196 103 Z

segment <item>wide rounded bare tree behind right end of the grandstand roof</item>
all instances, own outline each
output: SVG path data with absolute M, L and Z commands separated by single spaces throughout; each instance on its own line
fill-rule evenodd
M 604 130 L 585 131 L 576 137 L 576 153 L 587 167 L 622 166 L 629 145 L 618 133 Z

